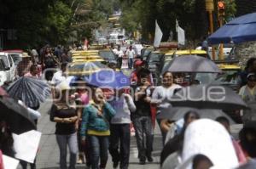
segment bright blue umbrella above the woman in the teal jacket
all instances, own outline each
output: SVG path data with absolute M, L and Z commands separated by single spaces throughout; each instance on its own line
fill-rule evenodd
M 121 71 L 100 70 L 88 77 L 87 82 L 96 87 L 129 87 L 130 79 Z

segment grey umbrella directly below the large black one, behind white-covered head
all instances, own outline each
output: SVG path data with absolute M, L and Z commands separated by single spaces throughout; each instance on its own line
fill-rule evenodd
M 213 109 L 195 109 L 189 107 L 172 107 L 170 104 L 166 109 L 161 109 L 160 113 L 156 115 L 157 119 L 172 119 L 172 121 L 177 121 L 182 119 L 183 116 L 189 112 L 194 111 L 200 115 L 201 118 L 207 118 L 215 120 L 219 116 L 224 116 L 229 119 L 230 124 L 235 124 L 235 122 L 230 118 L 229 115 L 226 115 L 222 110 L 213 110 Z

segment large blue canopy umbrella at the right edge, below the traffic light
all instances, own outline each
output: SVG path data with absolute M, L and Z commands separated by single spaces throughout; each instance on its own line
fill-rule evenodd
M 256 40 L 256 13 L 242 15 L 220 27 L 210 37 L 210 44 L 240 43 Z

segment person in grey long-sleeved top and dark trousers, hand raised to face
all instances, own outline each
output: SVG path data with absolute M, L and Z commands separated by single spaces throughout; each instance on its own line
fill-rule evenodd
M 113 116 L 110 125 L 109 152 L 112 155 L 113 168 L 128 169 L 130 156 L 130 125 L 131 112 L 136 106 L 129 94 L 124 89 L 116 90 L 116 98 L 110 102 L 116 114 Z M 120 148 L 120 150 L 119 150 Z

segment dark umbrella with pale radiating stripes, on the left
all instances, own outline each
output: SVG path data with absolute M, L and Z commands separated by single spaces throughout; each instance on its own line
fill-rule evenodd
M 28 107 L 38 107 L 49 97 L 50 88 L 42 80 L 33 77 L 20 77 L 8 88 L 9 96 L 22 100 Z

